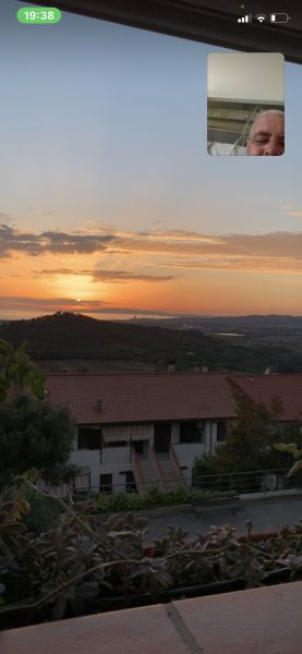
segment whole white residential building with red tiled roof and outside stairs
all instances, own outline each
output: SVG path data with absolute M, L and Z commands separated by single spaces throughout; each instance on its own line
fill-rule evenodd
M 47 376 L 47 392 L 76 424 L 71 462 L 84 487 L 118 492 L 168 491 L 191 483 L 194 458 L 215 451 L 235 417 L 234 382 L 255 401 L 274 399 L 282 420 L 299 420 L 302 375 L 106 373 Z

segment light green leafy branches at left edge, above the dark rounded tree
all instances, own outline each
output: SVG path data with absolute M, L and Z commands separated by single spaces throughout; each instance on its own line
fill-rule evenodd
M 0 339 L 0 401 L 24 389 L 38 398 L 44 398 L 44 376 L 32 363 L 24 341 L 14 349 L 11 343 Z

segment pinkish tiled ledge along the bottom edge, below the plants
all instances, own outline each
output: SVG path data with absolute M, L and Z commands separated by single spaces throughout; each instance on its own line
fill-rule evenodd
M 301 654 L 302 582 L 0 633 L 1 654 Z

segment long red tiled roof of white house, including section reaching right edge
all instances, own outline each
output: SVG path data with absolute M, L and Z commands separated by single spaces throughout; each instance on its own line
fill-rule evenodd
M 285 420 L 299 417 L 302 375 L 55 374 L 47 376 L 46 388 L 51 401 L 70 408 L 77 424 L 231 419 L 230 378 L 256 401 L 278 397 Z

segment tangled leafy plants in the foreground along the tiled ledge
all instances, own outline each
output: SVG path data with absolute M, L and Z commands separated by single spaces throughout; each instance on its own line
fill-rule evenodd
M 240 588 L 253 588 L 271 582 L 270 573 L 281 572 L 283 579 L 286 570 L 290 580 L 302 573 L 301 522 L 261 542 L 253 538 L 251 523 L 243 537 L 235 537 L 226 525 L 190 541 L 186 532 L 170 528 L 165 538 L 146 550 L 146 519 L 124 513 L 99 524 L 94 500 L 57 500 L 62 509 L 57 524 L 34 534 L 23 521 L 31 512 L 24 484 L 32 487 L 24 477 L 14 498 L 0 501 L 0 620 L 4 629 L 108 610 L 119 603 L 124 606 L 131 597 L 152 603 L 172 589 L 185 595 L 188 586 L 233 581 L 240 581 Z M 221 592 L 221 586 L 215 589 Z M 229 590 L 234 590 L 233 584 Z

